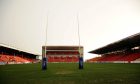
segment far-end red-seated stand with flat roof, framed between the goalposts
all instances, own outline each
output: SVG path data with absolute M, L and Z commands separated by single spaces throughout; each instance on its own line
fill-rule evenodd
M 46 47 L 46 57 L 48 62 L 79 62 L 79 46 L 43 46 Z M 80 47 L 81 57 L 83 57 L 83 47 Z M 44 54 L 44 52 L 42 52 Z

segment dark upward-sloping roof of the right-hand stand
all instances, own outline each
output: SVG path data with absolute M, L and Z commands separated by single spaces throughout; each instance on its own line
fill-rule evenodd
M 105 54 L 105 53 L 114 52 L 118 50 L 133 48 L 136 46 L 140 46 L 140 33 L 131 35 L 129 37 L 126 37 L 114 43 L 108 44 L 96 50 L 92 50 L 89 53 Z

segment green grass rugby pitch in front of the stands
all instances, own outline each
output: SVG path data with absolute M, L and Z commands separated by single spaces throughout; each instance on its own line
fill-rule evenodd
M 0 84 L 140 84 L 140 64 L 49 63 L 0 66 Z

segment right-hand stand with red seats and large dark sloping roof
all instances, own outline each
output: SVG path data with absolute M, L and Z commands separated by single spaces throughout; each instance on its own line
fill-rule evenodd
M 140 63 L 140 33 L 108 44 L 89 53 L 100 56 L 87 62 Z

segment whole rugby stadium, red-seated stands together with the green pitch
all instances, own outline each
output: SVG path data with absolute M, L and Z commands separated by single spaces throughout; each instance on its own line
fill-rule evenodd
M 8 65 L 0 65 L 0 83 L 139 84 L 139 35 L 90 51 L 101 56 L 86 61 L 82 70 L 77 68 L 77 46 L 47 46 L 47 70 L 43 71 L 41 63 L 33 62 L 37 55 L 1 46 L 1 64 Z

